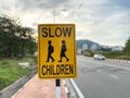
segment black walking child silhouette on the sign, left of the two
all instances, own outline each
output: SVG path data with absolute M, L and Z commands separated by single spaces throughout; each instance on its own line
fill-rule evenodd
M 52 57 L 52 53 L 54 52 L 54 48 L 53 48 L 53 46 L 51 45 L 51 44 L 52 44 L 51 40 L 49 40 L 48 44 L 49 44 L 49 47 L 48 47 L 48 60 L 47 60 L 46 62 L 49 62 L 50 59 L 52 59 L 52 62 L 53 62 L 54 59 L 53 59 L 53 57 Z

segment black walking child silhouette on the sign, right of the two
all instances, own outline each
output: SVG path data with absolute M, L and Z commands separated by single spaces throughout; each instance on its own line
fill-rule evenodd
M 61 49 L 61 60 L 58 62 L 62 62 L 62 58 L 65 58 L 66 61 L 69 61 L 69 59 L 66 57 L 65 52 L 66 52 L 66 44 L 65 40 L 62 40 L 62 49 Z

